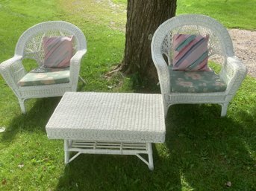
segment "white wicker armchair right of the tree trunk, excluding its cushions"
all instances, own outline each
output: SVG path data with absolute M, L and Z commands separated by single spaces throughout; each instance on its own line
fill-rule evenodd
M 168 65 L 172 65 L 172 36 L 175 33 L 210 35 L 208 42 L 209 59 L 218 60 L 222 65 L 219 78 L 227 85 L 225 91 L 212 93 L 172 92 Z M 246 67 L 234 56 L 233 45 L 228 30 L 219 22 L 203 15 L 180 15 L 163 22 L 152 39 L 152 59 L 160 82 L 165 116 L 169 106 L 178 103 L 217 103 L 222 106 L 221 116 L 225 116 L 228 103 L 236 94 L 246 77 Z M 164 58 L 166 56 L 166 59 Z M 167 63 L 168 62 L 168 63 Z M 184 71 L 186 72 L 186 71 Z

